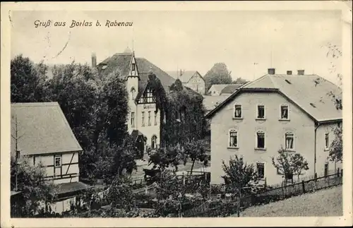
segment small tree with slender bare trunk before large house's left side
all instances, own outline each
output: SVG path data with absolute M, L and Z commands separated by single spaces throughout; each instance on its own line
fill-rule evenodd
M 238 193 L 238 217 L 240 216 L 241 192 L 246 188 L 252 188 L 257 183 L 256 170 L 253 164 L 246 164 L 243 157 L 235 155 L 229 160 L 229 165 L 222 161 L 222 169 L 225 172 L 225 182 L 228 188 L 234 193 Z

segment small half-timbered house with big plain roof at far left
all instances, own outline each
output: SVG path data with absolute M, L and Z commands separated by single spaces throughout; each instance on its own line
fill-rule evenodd
M 18 157 L 18 162 L 28 160 L 44 166 L 45 178 L 58 187 L 54 212 L 65 212 L 81 203 L 76 196 L 88 188 L 79 181 L 80 152 L 82 148 L 57 102 L 11 104 L 11 156 Z

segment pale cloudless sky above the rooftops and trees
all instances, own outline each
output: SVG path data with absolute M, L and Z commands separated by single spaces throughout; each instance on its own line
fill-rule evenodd
M 35 20 L 66 26 L 35 28 Z M 92 27 L 69 28 L 72 20 Z M 133 26 L 107 28 L 106 20 Z M 92 52 L 99 63 L 129 47 L 164 71 L 204 75 L 223 62 L 234 80 L 259 78 L 272 67 L 337 83 L 341 70 L 339 59 L 326 56 L 328 43 L 342 47 L 340 11 L 13 11 L 11 21 L 11 58 L 47 64 L 90 64 Z

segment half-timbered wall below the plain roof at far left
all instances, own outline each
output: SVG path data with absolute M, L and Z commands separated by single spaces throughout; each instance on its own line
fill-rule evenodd
M 57 153 L 60 155 L 60 153 Z M 72 160 L 71 160 L 72 159 Z M 77 182 L 80 173 L 78 168 L 78 152 L 61 153 L 61 167 L 55 168 L 54 176 L 54 155 L 34 155 L 30 157 L 32 164 L 44 165 L 49 179 L 54 178 L 54 184 Z M 69 174 L 72 174 L 70 176 Z

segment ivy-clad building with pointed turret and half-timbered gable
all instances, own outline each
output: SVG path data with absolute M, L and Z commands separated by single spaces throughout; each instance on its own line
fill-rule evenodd
M 92 56 L 92 65 L 95 66 L 96 56 Z M 128 90 L 128 133 L 138 140 L 139 146 L 148 150 L 160 146 L 160 112 L 156 112 L 155 95 L 148 88 L 148 75 L 154 73 L 160 79 L 166 92 L 175 81 L 174 78 L 162 71 L 144 58 L 136 58 L 135 53 L 126 49 L 105 59 L 97 66 L 102 76 L 109 76 L 119 72 L 119 76 L 126 81 Z M 142 140 L 143 138 L 146 139 Z M 143 145 L 141 145 L 143 144 Z

